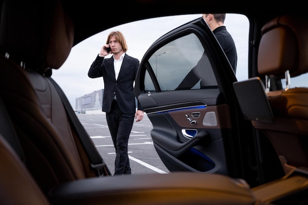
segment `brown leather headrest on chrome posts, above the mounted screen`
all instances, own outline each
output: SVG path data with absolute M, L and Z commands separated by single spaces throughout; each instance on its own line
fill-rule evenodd
M 285 15 L 268 22 L 261 29 L 258 72 L 274 78 L 308 72 L 308 19 Z

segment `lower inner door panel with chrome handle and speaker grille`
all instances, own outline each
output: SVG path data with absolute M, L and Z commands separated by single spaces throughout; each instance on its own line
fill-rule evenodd
M 190 124 L 186 118 L 186 115 L 191 116 L 191 113 L 198 113 L 198 117 L 191 118 L 197 121 L 194 125 Z M 216 115 L 216 113 L 219 114 Z M 228 116 L 227 105 L 199 106 L 197 108 L 182 107 L 181 109 L 165 111 L 164 117 L 161 114 L 154 113 L 148 115 L 154 123 L 151 131 L 154 147 L 170 154 L 168 158 L 174 158 L 174 161 L 178 159 L 178 166 L 189 164 L 190 169 L 198 172 L 219 170 L 219 173 L 226 174 L 226 170 L 222 169 L 222 167 L 225 167 L 225 157 L 222 143 L 223 131 L 221 130 L 228 129 L 231 126 L 231 122 L 227 121 L 228 118 L 225 117 Z M 154 115 L 157 115 L 157 117 Z M 155 120 L 155 118 L 158 118 L 158 120 Z M 162 121 L 162 119 L 165 120 Z M 159 124 L 156 125 L 156 122 L 159 122 Z M 187 130 L 194 131 L 190 135 L 191 137 L 183 134 Z M 161 152 L 160 155 L 166 155 L 165 153 Z M 200 161 L 203 162 L 200 163 Z M 224 165 L 221 166 L 220 164 Z M 172 171 L 179 171 L 182 168 Z M 212 170 L 214 168 L 215 170 Z

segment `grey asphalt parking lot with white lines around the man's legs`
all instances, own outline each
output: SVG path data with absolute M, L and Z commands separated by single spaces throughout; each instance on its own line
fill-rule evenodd
M 86 114 L 77 114 L 77 116 L 113 174 L 116 154 L 105 114 L 101 111 L 87 111 Z M 150 136 L 152 128 L 152 123 L 146 114 L 142 121 L 134 121 L 128 140 L 128 155 L 132 174 L 169 173 L 153 146 Z

